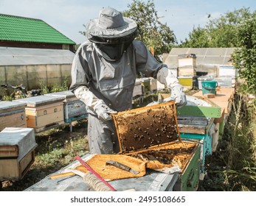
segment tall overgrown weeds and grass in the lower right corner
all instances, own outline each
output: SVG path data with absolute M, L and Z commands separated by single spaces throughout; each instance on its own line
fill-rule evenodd
M 255 102 L 249 102 L 248 95 L 235 94 L 217 152 L 208 157 L 208 175 L 200 190 L 255 191 L 255 131 Z

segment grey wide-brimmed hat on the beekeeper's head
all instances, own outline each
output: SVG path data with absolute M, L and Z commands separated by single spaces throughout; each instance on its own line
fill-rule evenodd
M 99 18 L 94 18 L 86 25 L 86 35 L 89 40 L 93 37 L 120 38 L 131 35 L 136 31 L 137 24 L 130 18 L 107 7 L 100 10 Z

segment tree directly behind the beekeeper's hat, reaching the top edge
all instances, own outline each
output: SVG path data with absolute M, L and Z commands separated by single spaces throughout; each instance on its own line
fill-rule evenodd
M 128 10 L 123 11 L 122 15 L 136 21 L 136 39 L 142 40 L 149 49 L 152 49 L 156 59 L 159 60 L 159 55 L 163 53 L 169 53 L 174 43 L 177 43 L 170 27 L 159 21 L 153 0 L 147 3 L 134 0 L 128 4 Z

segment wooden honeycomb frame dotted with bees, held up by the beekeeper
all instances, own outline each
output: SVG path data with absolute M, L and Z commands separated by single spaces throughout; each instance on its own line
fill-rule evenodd
M 120 112 L 113 119 L 121 153 L 181 141 L 174 101 Z

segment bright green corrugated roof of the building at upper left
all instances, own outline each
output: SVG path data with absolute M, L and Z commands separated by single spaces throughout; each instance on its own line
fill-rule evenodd
M 75 44 L 40 19 L 4 14 L 0 14 L 0 40 Z

